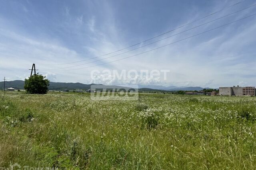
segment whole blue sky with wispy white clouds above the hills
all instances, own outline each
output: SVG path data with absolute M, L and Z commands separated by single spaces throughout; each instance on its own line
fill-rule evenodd
M 30 75 L 28 68 L 36 63 L 39 73 L 54 82 L 129 84 L 129 81 L 113 81 L 111 76 L 94 80 L 90 72 L 167 69 L 170 70 L 167 80 L 139 83 L 213 88 L 237 84 L 256 86 L 256 16 L 129 59 L 79 70 L 62 69 L 77 64 L 84 65 L 72 68 L 83 68 L 143 53 L 252 15 L 256 6 L 123 55 L 101 57 L 104 60 L 95 63 L 47 65 L 104 55 L 237 2 L 240 0 L 0 0 L 0 76 L 24 80 Z M 253 4 L 256 2 L 245 0 L 148 43 Z

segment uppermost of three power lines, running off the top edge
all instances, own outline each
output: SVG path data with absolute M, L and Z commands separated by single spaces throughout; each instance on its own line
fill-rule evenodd
M 182 27 L 185 27 L 185 26 L 187 26 L 187 25 L 190 25 L 190 24 L 192 24 L 192 23 L 194 23 L 194 22 L 196 22 L 196 21 L 200 21 L 200 20 L 202 20 L 202 19 L 204 19 L 204 18 L 207 18 L 207 17 L 209 17 L 209 16 L 212 16 L 212 15 L 218 13 L 218 12 L 222 12 L 222 11 L 224 11 L 224 10 L 226 10 L 226 9 L 228 9 L 228 8 L 231 8 L 231 7 L 233 7 L 233 6 L 236 6 L 236 5 L 238 5 L 238 4 L 240 4 L 240 3 L 244 2 L 244 1 L 246 1 L 246 0 L 242 0 L 242 1 L 240 1 L 240 2 L 237 2 L 237 3 L 235 3 L 235 4 L 232 4 L 232 5 L 230 5 L 230 6 L 226 7 L 226 8 L 223 8 L 222 10 L 218 10 L 218 11 L 216 11 L 216 12 L 213 12 L 212 14 L 209 14 L 209 15 L 207 15 L 207 16 L 204 16 L 204 17 L 199 18 L 199 19 L 197 19 L 197 20 L 194 20 L 194 21 L 192 21 L 192 22 L 186 23 L 186 24 L 184 24 L 184 25 L 182 25 L 182 26 L 180 26 L 180 27 L 171 29 L 171 30 L 169 30 L 169 31 L 167 31 L 167 32 L 165 32 L 165 33 L 160 34 L 160 35 L 156 35 L 156 36 L 154 36 L 154 37 L 152 37 L 152 38 L 146 39 L 146 40 L 141 41 L 141 42 L 139 42 L 139 43 L 136 43 L 136 44 L 134 44 L 134 45 L 130 45 L 130 46 L 125 47 L 125 48 L 123 48 L 123 49 L 119 49 L 119 50 L 116 50 L 116 51 L 112 51 L 112 52 L 107 53 L 107 54 L 104 54 L 104 55 L 100 55 L 100 56 L 97 56 L 97 57 L 92 57 L 92 58 L 84 59 L 84 60 L 80 60 L 80 61 L 73 61 L 73 62 L 69 62 L 69 63 L 61 63 L 61 64 L 41 64 L 41 65 L 64 65 L 64 64 L 72 64 L 72 63 L 79 63 L 79 62 L 82 62 L 82 61 L 87 61 L 87 60 L 95 59 L 95 58 L 98 58 L 98 57 L 104 57 L 104 56 L 106 56 L 106 55 L 110 55 L 110 54 L 116 53 L 116 52 L 118 52 L 118 51 L 122 51 L 122 50 L 124 50 L 124 49 L 128 49 L 128 48 L 130 48 L 130 47 L 134 47 L 134 46 L 136 46 L 136 45 L 139 45 L 139 44 L 145 43 L 145 42 L 147 42 L 147 41 L 150 41 L 150 40 L 152 40 L 152 39 L 155 39 L 155 38 L 157 38 L 157 37 L 160 37 L 160 36 L 162 36 L 162 35 L 165 35 L 165 34 L 167 34 L 167 33 L 170 33 L 170 32 L 172 32 L 172 31 L 175 31 L 175 30 L 177 30 L 177 29 L 180 29 L 180 28 L 182 28 Z

